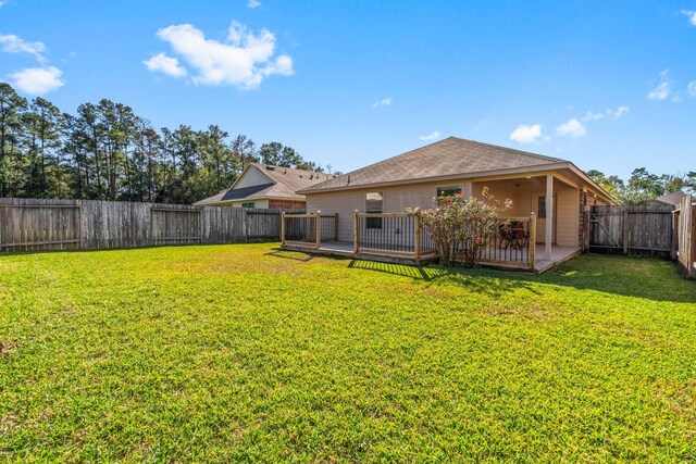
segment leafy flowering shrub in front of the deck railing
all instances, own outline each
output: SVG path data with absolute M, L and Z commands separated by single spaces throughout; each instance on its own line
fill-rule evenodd
M 437 198 L 434 203 L 435 208 L 422 215 L 440 263 L 467 267 L 478 264 L 488 238 L 498 230 L 498 214 L 512 205 L 510 200 L 500 205 L 485 187 L 481 199 L 455 195 Z

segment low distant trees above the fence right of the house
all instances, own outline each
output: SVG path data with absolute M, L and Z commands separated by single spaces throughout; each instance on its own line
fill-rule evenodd
M 641 204 L 657 197 L 682 191 L 696 195 L 696 171 L 685 174 L 651 174 L 645 167 L 633 170 L 629 180 L 591 170 L 587 175 L 611 193 L 619 204 Z

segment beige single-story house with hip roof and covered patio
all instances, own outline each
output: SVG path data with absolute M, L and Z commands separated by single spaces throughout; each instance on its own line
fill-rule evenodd
M 546 251 L 547 260 L 551 260 L 552 246 L 580 250 L 585 205 L 613 203 L 607 191 L 570 161 L 456 137 L 332 177 L 298 193 L 306 197 L 308 213 L 337 215 L 337 241 L 352 242 L 356 235 L 365 233 L 352 220 L 356 212 L 425 210 L 433 208 L 438 196 L 480 197 L 484 188 L 500 201 L 512 200 L 506 216 L 535 213 L 535 242 L 544 244 L 539 249 Z M 360 227 L 377 224 L 368 220 Z

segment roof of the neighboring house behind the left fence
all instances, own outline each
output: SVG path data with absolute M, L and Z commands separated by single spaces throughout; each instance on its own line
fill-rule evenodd
M 263 180 L 261 180 L 261 184 L 251 186 L 238 186 L 239 180 L 249 170 L 256 170 L 261 173 Z M 313 171 L 293 170 L 289 167 L 250 163 L 229 190 L 221 191 L 220 193 L 198 201 L 195 204 L 204 205 L 262 199 L 304 201 L 304 196 L 296 193 L 297 190 L 325 181 L 331 177 L 331 174 L 315 173 Z

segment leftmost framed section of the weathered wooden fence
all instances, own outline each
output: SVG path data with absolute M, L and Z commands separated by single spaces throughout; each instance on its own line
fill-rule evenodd
M 82 211 L 75 204 L 0 204 L 0 250 L 80 248 Z

